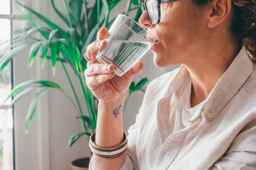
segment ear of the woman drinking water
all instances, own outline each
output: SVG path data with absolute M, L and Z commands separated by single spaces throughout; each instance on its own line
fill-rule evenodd
M 207 25 L 214 28 L 224 22 L 231 11 L 231 0 L 213 0 L 209 4 Z

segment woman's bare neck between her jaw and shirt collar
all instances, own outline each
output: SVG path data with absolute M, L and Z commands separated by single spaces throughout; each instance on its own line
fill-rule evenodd
M 196 57 L 198 58 L 196 63 L 183 64 L 188 69 L 192 82 L 191 107 L 196 106 L 208 97 L 238 54 L 240 47 L 236 46 L 234 48 L 234 45 L 226 44 L 218 45 L 218 48 L 211 47 L 211 49 L 218 50 Z

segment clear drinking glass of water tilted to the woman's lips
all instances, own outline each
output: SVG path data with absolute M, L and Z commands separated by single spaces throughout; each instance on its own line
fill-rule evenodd
M 102 64 L 114 65 L 118 76 L 132 68 L 155 43 L 143 26 L 122 14 L 117 16 L 104 40 L 108 45 L 96 58 Z

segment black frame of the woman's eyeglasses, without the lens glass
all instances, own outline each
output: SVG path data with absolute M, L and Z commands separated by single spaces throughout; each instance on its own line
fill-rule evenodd
M 148 0 L 140 0 L 140 7 L 141 7 L 141 12 L 143 13 L 145 10 L 146 10 L 146 13 L 147 13 L 147 15 L 148 15 L 148 10 L 146 9 L 146 2 L 147 2 Z M 161 18 L 161 13 L 160 13 L 160 4 L 162 4 L 162 3 L 166 3 L 166 2 L 175 2 L 175 1 L 180 1 L 180 0 L 157 0 L 157 11 L 158 11 L 158 19 L 157 19 L 157 22 L 153 22 L 152 20 L 151 20 L 151 18 L 149 17 L 149 15 L 148 15 L 148 19 L 150 20 L 150 22 L 152 22 L 152 24 L 157 24 L 157 23 L 159 23 L 160 22 L 160 18 Z M 240 4 L 237 4 L 236 2 L 234 2 L 234 0 L 231 0 L 231 2 L 233 3 L 233 4 L 235 4 L 237 7 L 243 7 L 243 5 L 240 5 Z

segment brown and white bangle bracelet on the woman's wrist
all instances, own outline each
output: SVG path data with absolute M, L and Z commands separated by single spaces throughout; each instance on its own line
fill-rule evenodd
M 119 157 L 127 150 L 128 141 L 125 133 L 123 142 L 117 146 L 112 147 L 97 146 L 95 144 L 95 134 L 96 132 L 92 133 L 89 141 L 89 147 L 93 154 L 99 157 L 115 158 Z

